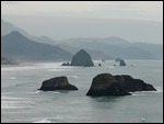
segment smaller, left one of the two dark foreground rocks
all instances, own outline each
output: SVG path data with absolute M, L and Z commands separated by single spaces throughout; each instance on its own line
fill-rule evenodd
M 78 90 L 78 88 L 68 82 L 67 77 L 56 77 L 45 80 L 38 90 L 52 91 L 52 90 Z

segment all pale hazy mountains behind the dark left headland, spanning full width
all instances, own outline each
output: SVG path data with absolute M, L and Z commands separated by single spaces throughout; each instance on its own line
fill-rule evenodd
M 81 48 L 87 49 L 93 59 L 114 59 L 117 57 L 124 59 L 163 59 L 162 44 L 147 44 L 147 43 L 130 43 L 120 37 L 109 36 L 105 38 L 84 37 L 84 38 L 69 38 L 62 41 L 54 41 L 47 36 L 33 36 L 14 26 L 13 24 L 1 20 L 1 36 L 3 32 L 19 31 L 27 38 L 60 47 L 71 54 L 75 54 Z M 7 30 L 8 29 L 8 30 Z M 10 29 L 10 30 L 9 30 Z

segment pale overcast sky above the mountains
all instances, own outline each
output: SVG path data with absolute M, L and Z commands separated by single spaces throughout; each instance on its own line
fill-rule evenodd
M 1 1 L 1 18 L 54 40 L 120 36 L 163 43 L 163 1 Z

